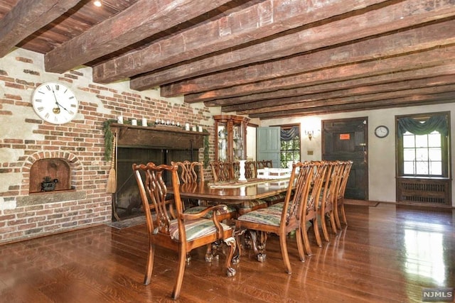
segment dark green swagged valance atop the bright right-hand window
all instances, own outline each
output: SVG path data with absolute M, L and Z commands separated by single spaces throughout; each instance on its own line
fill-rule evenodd
M 406 131 L 414 133 L 414 135 L 427 135 L 432 131 L 439 131 L 441 135 L 447 136 L 449 133 L 447 126 L 447 116 L 431 116 L 424 123 L 421 123 L 413 118 L 398 119 L 398 137 L 401 138 L 403 136 L 403 133 L 406 133 Z

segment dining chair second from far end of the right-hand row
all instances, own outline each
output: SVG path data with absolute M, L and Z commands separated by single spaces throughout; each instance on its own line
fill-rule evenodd
M 333 233 L 336 233 L 335 216 L 333 209 L 340 180 L 341 163 L 340 161 L 328 161 L 327 172 L 323 182 L 323 188 L 319 196 L 318 214 L 324 239 L 330 242 L 326 221 L 330 221 Z M 315 226 L 316 228 L 316 226 Z

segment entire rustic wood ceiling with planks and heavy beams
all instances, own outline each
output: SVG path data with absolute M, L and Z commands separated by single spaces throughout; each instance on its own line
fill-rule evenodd
M 0 0 L 0 57 L 252 118 L 453 102 L 455 0 Z

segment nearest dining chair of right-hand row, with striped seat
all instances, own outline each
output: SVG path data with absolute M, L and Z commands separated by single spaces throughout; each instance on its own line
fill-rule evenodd
M 299 167 L 299 173 L 296 168 Z M 293 165 L 286 199 L 282 204 L 275 204 L 264 209 L 250 211 L 239 216 L 235 221 L 235 228 L 242 233 L 243 230 L 255 231 L 252 244 L 257 253 L 257 260 L 265 260 L 265 244 L 267 235 L 275 233 L 279 236 L 282 259 L 287 273 L 291 274 L 291 263 L 287 250 L 287 234 L 296 231 L 296 242 L 299 258 L 305 260 L 304 246 L 301 235 L 301 215 L 308 199 L 313 165 L 310 162 L 298 162 Z M 294 195 L 291 195 L 294 189 Z M 258 242 L 258 243 L 256 243 Z

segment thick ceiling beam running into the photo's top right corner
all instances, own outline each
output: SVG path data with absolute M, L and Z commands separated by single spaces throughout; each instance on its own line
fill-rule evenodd
M 317 26 L 304 26 L 300 31 L 283 33 L 283 35 L 262 43 L 247 45 L 226 53 L 201 58 L 197 61 L 183 62 L 175 67 L 151 72 L 132 79 L 131 87 L 143 90 L 219 70 L 264 60 L 274 60 L 372 35 L 397 31 L 401 28 L 418 26 L 421 23 L 440 20 L 455 14 L 455 6 L 449 0 L 444 1 L 442 5 L 437 4 L 430 7 L 426 3 L 414 0 L 398 3 L 388 1 L 387 4 L 391 5 L 380 4 L 360 11 L 351 11 L 344 17 L 337 16 L 336 20 L 326 19 Z M 350 4 L 346 3 L 346 6 L 350 6 Z M 324 9 L 328 11 L 328 8 L 324 7 Z

